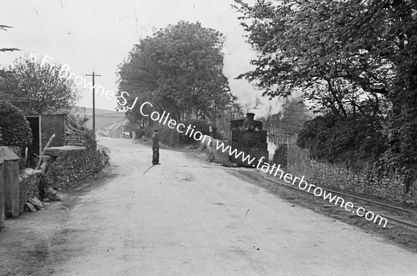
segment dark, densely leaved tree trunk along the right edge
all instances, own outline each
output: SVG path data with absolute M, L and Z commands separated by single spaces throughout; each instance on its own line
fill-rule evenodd
M 390 163 L 414 167 L 417 177 L 417 2 L 368 1 L 366 10 L 353 20 L 349 38 L 377 33 L 370 54 L 393 64 L 392 86 L 387 96 Z

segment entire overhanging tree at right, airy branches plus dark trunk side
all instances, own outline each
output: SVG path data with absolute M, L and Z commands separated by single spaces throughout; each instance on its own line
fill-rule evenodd
M 387 134 L 390 158 L 416 163 L 416 1 L 235 2 L 259 53 L 240 78 L 270 97 L 300 90 L 335 118 L 366 117 Z

